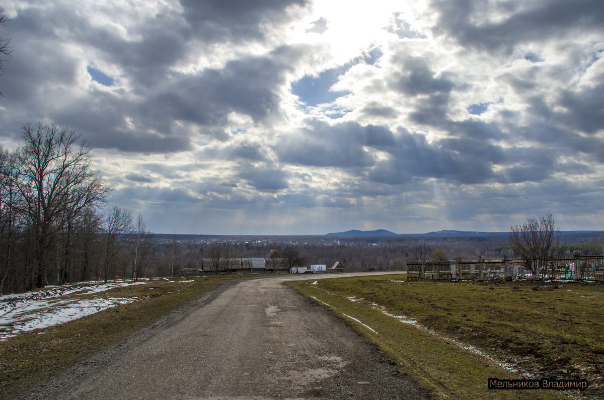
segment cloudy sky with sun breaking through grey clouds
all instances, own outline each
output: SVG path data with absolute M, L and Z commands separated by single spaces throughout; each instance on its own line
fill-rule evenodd
M 0 8 L 0 143 L 76 131 L 153 232 L 604 230 L 602 0 Z

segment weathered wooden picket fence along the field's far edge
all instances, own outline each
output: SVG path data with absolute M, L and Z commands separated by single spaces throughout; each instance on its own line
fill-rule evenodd
M 534 271 L 534 273 L 533 273 Z M 553 282 L 604 282 L 604 256 L 550 258 L 547 260 L 503 259 L 406 262 L 407 279 L 419 280 L 545 280 Z

